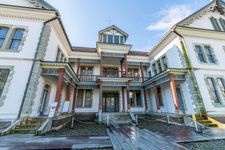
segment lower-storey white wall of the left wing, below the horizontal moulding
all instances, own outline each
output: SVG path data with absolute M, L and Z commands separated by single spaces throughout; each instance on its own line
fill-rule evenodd
M 13 67 L 11 72 L 12 80 L 10 81 L 6 98 L 3 101 L 3 106 L 0 107 L 0 119 L 16 119 L 23 99 L 32 62 L 0 59 L 0 64 L 0 66 L 3 67 Z M 23 66 L 23 68 L 21 68 L 21 66 Z

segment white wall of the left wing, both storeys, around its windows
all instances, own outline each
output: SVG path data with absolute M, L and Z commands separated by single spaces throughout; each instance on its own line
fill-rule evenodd
M 0 18 L 0 22 L 3 26 L 6 25 L 10 28 L 21 27 L 27 30 L 24 33 L 25 41 L 20 51 L 0 51 L 0 66 L 13 67 L 12 80 L 8 87 L 4 104 L 0 107 L 0 119 L 16 119 L 28 82 L 33 62 L 32 59 L 37 49 L 43 23 L 5 18 Z M 15 92 L 18 90 L 20 92 Z

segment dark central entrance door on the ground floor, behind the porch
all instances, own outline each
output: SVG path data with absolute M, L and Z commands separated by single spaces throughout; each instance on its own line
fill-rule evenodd
M 119 93 L 103 93 L 103 112 L 119 112 Z

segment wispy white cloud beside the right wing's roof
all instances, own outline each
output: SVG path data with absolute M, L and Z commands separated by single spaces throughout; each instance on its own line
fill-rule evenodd
M 192 9 L 185 4 L 173 5 L 171 7 L 165 8 L 158 13 L 158 17 L 161 19 L 155 23 L 150 24 L 147 27 L 149 31 L 167 31 L 173 25 L 181 21 L 183 18 L 187 17 L 192 13 Z

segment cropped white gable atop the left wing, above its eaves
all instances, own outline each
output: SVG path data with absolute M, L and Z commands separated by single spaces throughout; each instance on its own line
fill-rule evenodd
M 49 5 L 44 0 L 1 0 L 0 4 L 12 5 L 20 7 L 38 8 L 38 9 L 48 9 L 55 10 L 51 5 Z

